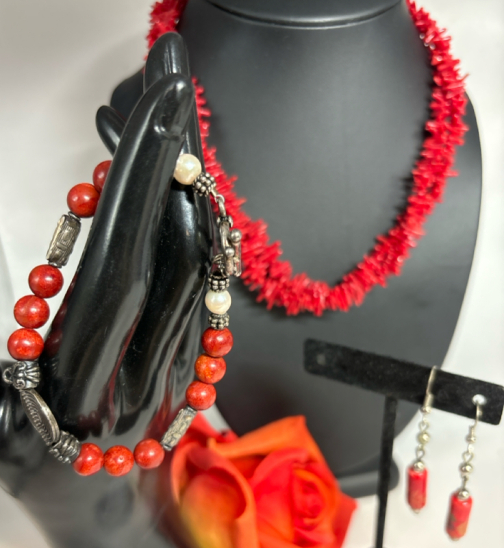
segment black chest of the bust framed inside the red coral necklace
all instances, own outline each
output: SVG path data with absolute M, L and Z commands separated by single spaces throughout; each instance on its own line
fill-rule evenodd
M 217 122 L 210 143 L 238 175 L 245 210 L 295 271 L 336 282 L 390 229 L 420 152 L 432 76 L 406 6 L 320 28 L 192 0 L 180 31 Z

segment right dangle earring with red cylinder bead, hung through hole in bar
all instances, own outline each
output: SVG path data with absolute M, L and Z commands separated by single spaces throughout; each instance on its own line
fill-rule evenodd
M 462 486 L 451 495 L 450 512 L 446 521 L 446 533 L 448 533 L 452 540 L 458 540 L 466 534 L 469 522 L 472 497 L 466 486 L 469 475 L 472 472 L 471 461 L 475 456 L 475 429 L 477 423 L 479 423 L 479 419 L 481 419 L 481 414 L 483 414 L 482 408 L 486 403 L 486 397 L 478 394 L 472 398 L 472 403 L 476 406 L 476 417 L 475 422 L 469 428 L 469 434 L 466 436 L 467 449 L 462 453 L 462 464 L 459 466 L 460 475 L 462 476 Z

